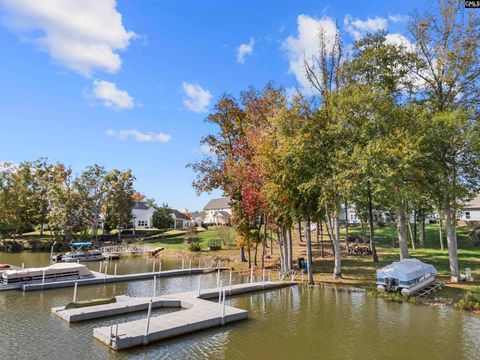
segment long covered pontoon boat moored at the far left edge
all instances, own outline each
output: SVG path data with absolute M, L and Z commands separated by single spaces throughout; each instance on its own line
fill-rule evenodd
M 84 279 L 94 275 L 81 264 L 53 264 L 40 268 L 4 270 L 0 272 L 0 285 L 21 285 L 61 280 Z

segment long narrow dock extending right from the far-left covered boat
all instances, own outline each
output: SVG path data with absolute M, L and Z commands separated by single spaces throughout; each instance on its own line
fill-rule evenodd
M 96 271 L 91 271 L 94 274 L 94 276 L 90 278 L 71 279 L 71 280 L 54 281 L 54 282 L 45 281 L 43 284 L 41 282 L 36 282 L 36 283 L 21 285 L 19 289 L 23 291 L 57 289 L 57 288 L 64 288 L 64 287 L 73 287 L 75 286 L 75 283 L 77 283 L 78 286 L 110 284 L 114 282 L 153 279 L 154 277 L 164 278 L 164 277 L 173 277 L 173 276 L 206 274 L 206 273 L 212 273 L 212 272 L 218 271 L 219 269 L 223 271 L 223 270 L 228 270 L 229 268 L 225 268 L 225 267 L 186 268 L 186 269 L 162 270 L 162 271 L 155 271 L 155 272 L 126 274 L 126 275 L 108 275 L 108 274 L 102 274 Z

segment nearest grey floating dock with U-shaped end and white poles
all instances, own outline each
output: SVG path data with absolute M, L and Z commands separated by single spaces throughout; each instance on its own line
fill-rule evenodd
M 116 303 L 68 310 L 65 307 L 57 307 L 52 308 L 52 313 L 67 322 L 79 322 L 145 311 L 148 310 L 150 302 L 151 309 L 179 308 L 180 311 L 155 317 L 147 316 L 146 319 L 118 323 L 93 330 L 93 336 L 96 339 L 114 350 L 123 350 L 246 319 L 248 317 L 246 310 L 227 306 L 224 299 L 222 302 L 206 300 L 221 298 L 221 291 L 224 292 L 224 296 L 230 296 L 294 284 L 294 282 L 265 281 L 227 286 L 223 290 L 219 288 L 204 289 L 200 293 L 192 291 L 152 298 L 118 296 Z

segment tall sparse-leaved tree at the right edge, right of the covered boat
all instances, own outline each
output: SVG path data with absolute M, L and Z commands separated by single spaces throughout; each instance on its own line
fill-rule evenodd
M 432 193 L 445 214 L 451 280 L 458 281 L 455 209 L 477 190 L 480 101 L 480 20 L 463 1 L 442 0 L 438 9 L 416 14 L 410 70 L 419 100 L 431 112 Z M 450 137 L 453 136 L 453 137 Z

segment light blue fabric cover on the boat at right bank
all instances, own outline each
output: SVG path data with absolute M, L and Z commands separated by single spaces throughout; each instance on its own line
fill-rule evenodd
M 437 270 L 433 265 L 425 264 L 418 259 L 404 259 L 378 269 L 377 279 L 412 281 L 426 274 L 436 275 Z

